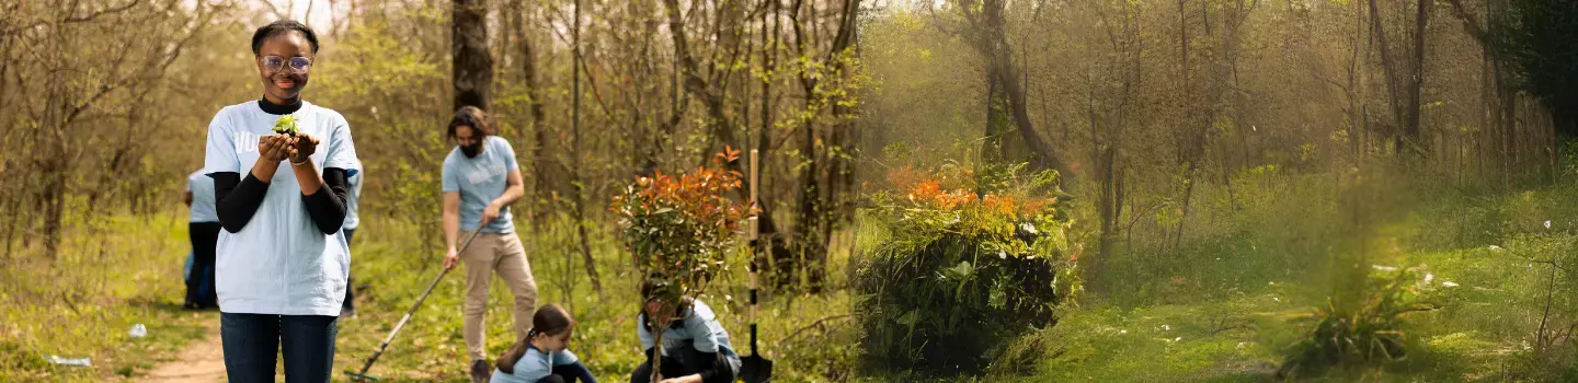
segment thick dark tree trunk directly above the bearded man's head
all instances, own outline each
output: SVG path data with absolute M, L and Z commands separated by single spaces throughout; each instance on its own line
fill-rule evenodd
M 488 2 L 454 0 L 451 14 L 454 109 L 488 110 L 492 88 L 492 54 L 488 50 Z M 527 60 L 530 61 L 530 60 Z

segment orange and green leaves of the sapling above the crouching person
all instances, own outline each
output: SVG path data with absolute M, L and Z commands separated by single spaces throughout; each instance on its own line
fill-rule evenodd
M 614 195 L 609 210 L 619 216 L 625 247 L 636 270 L 658 284 L 658 298 L 679 303 L 696 296 L 726 270 L 724 255 L 748 213 L 727 197 L 742 177 L 724 164 L 739 158 L 739 150 L 724 148 L 709 165 L 641 177 Z

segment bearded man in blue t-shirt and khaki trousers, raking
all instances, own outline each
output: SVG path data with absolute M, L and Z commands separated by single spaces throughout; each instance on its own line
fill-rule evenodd
M 467 106 L 456 110 L 448 137 L 456 147 L 443 159 L 443 238 L 450 249 L 443 266 L 466 263 L 466 353 L 472 359 L 472 381 L 488 381 L 492 367 L 483 353 L 483 314 L 488 312 L 492 274 L 497 273 L 514 295 L 514 339 L 530 333 L 537 307 L 532 265 L 510 216 L 510 203 L 525 195 L 525 184 L 514 150 L 492 134 L 492 123 L 481 109 Z M 456 247 L 462 230 L 481 230 L 464 254 Z

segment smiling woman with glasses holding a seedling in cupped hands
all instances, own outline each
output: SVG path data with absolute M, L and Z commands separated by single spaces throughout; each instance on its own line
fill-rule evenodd
M 346 178 L 358 172 L 350 128 L 301 99 L 317 35 L 294 20 L 252 33 L 264 98 L 208 125 L 204 173 L 219 224 L 215 282 L 230 381 L 328 381 L 346 277 Z

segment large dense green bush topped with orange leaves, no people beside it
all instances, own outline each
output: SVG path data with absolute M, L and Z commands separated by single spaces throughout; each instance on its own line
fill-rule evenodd
M 1008 170 L 1011 173 L 1011 170 Z M 969 172 L 964 172 L 969 173 Z M 1005 340 L 1053 325 L 1054 309 L 1083 288 L 1071 273 L 1071 222 L 1054 200 L 1030 197 L 1056 173 L 1008 177 L 1002 194 L 942 191 L 933 178 L 890 175 L 903 197 L 873 195 L 868 214 L 888 222 L 881 244 L 862 254 L 854 287 L 865 331 L 866 370 L 975 374 Z

